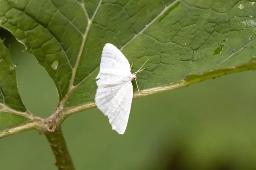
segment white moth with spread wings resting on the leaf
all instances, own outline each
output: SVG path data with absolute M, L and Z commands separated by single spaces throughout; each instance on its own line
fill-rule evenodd
M 124 134 L 127 127 L 133 97 L 131 80 L 136 81 L 136 74 L 143 71 L 140 69 L 132 74 L 130 64 L 122 52 L 112 44 L 104 46 L 96 77 L 99 80 L 96 81 L 98 88 L 95 102 L 99 110 L 108 116 L 112 129 L 119 134 Z

